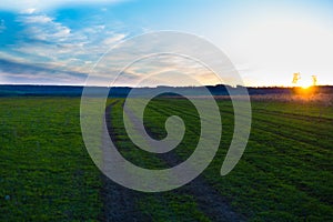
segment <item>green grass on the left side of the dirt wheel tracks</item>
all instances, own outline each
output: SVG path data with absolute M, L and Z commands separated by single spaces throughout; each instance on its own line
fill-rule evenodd
M 81 139 L 79 99 L 0 99 L 0 221 L 87 221 L 100 173 Z

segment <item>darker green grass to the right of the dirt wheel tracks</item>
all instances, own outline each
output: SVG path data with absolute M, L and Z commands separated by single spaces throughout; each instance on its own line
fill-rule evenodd
M 236 212 L 250 221 L 333 219 L 331 107 L 253 102 L 252 131 L 245 153 L 236 168 L 222 178 L 219 172 L 233 132 L 233 111 L 230 101 L 219 101 L 219 105 L 223 122 L 222 142 L 203 175 L 228 198 Z M 167 135 L 164 122 L 173 114 L 182 117 L 186 123 L 186 134 L 174 150 L 185 160 L 195 148 L 199 135 L 198 113 L 185 100 L 151 102 L 145 111 L 145 127 L 152 135 L 162 139 Z M 125 134 L 124 130 L 119 134 Z M 153 168 L 153 163 L 148 165 Z M 150 208 L 150 203 L 144 201 L 142 208 Z

